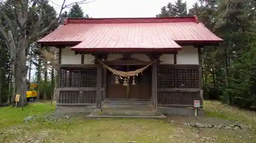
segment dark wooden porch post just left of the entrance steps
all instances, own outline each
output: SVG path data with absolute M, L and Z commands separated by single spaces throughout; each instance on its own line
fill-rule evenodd
M 97 64 L 97 100 L 96 100 L 96 108 L 101 108 L 101 101 L 102 101 L 102 65 L 99 62 Z

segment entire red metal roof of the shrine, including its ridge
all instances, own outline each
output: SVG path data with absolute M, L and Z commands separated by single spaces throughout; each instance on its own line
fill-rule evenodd
M 38 43 L 76 45 L 72 47 L 73 50 L 112 51 L 110 48 L 172 50 L 180 49 L 178 44 L 222 41 L 197 17 L 168 17 L 66 19 L 65 25 L 59 26 Z

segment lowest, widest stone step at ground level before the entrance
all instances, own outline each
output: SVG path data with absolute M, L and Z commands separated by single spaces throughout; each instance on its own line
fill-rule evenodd
M 161 116 L 112 116 L 112 115 L 88 115 L 88 118 L 141 118 L 141 119 L 163 119 L 166 118 L 164 115 Z

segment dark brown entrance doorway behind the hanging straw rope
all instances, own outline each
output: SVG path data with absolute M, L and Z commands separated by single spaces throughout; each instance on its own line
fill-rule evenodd
M 119 71 L 134 71 L 144 66 L 140 65 L 119 65 L 112 68 Z M 142 74 L 135 76 L 135 84 L 133 77 L 129 78 L 128 84 L 123 85 L 123 80 L 119 79 L 119 83 L 115 83 L 115 75 L 110 71 L 107 72 L 107 89 L 106 98 L 113 99 L 150 99 L 151 98 L 151 66 L 145 69 Z

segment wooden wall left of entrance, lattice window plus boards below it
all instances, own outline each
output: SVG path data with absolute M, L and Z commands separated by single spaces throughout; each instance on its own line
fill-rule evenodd
M 96 66 L 62 67 L 60 71 L 57 104 L 96 104 Z

